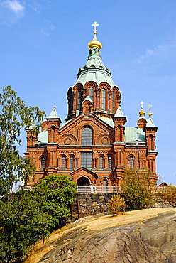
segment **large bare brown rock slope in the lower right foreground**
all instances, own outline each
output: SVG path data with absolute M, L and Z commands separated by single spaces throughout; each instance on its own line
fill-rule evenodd
M 149 213 L 149 212 L 148 212 Z M 147 220 L 139 219 L 119 225 L 112 218 L 101 222 L 92 217 L 81 218 L 70 225 L 70 230 L 53 242 L 40 263 L 175 263 L 176 210 L 159 213 Z M 136 213 L 131 213 L 136 216 Z M 119 217 L 116 217 L 119 218 Z M 84 224 L 82 225 L 82 221 Z

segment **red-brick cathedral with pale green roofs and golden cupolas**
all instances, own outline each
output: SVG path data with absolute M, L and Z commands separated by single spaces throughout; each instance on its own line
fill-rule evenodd
M 79 68 L 75 84 L 67 91 L 65 123 L 53 107 L 41 132 L 26 129 L 26 157 L 35 164 L 35 180 L 50 174 L 67 174 L 77 186 L 120 186 L 126 168 L 150 169 L 155 183 L 155 127 L 152 113 L 145 117 L 143 102 L 136 127 L 126 126 L 121 91 L 101 58 L 102 44 L 88 43 L 87 62 Z

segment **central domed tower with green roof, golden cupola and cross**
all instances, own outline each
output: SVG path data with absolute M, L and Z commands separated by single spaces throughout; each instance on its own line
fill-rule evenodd
M 79 68 L 75 85 L 67 92 L 68 114 L 66 121 L 79 114 L 93 112 L 101 117 L 113 117 L 121 102 L 121 92 L 114 85 L 109 68 L 106 68 L 101 58 L 102 44 L 97 40 L 97 26 L 95 21 L 94 38 L 89 41 L 89 55 L 87 63 Z M 91 100 L 87 100 L 87 98 Z M 87 101 L 87 102 L 86 102 Z

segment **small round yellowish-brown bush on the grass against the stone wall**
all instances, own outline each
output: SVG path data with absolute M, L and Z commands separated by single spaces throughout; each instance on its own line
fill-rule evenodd
M 114 195 L 108 203 L 109 212 L 118 215 L 119 211 L 124 211 L 126 204 L 121 195 Z

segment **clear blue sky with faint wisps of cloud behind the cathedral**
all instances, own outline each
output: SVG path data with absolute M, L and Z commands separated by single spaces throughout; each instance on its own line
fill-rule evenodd
M 142 100 L 147 113 L 153 105 L 157 173 L 176 185 L 175 13 L 175 0 L 1 0 L 0 86 L 48 115 L 56 106 L 64 122 L 67 89 L 87 61 L 97 21 L 126 126 L 136 127 Z

